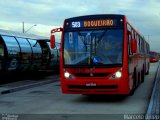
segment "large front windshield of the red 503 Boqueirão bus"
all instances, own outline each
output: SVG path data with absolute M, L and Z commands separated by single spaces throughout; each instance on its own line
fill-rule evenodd
M 86 30 L 64 33 L 64 65 L 122 64 L 123 30 Z

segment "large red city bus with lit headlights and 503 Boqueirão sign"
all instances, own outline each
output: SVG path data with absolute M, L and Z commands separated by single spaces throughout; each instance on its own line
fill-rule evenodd
M 133 94 L 149 73 L 149 44 L 125 15 L 66 19 L 61 32 L 60 77 L 67 94 Z

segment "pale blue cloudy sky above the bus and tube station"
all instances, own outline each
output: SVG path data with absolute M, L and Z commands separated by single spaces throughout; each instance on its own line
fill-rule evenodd
M 50 36 L 65 18 L 89 14 L 124 14 L 160 52 L 160 0 L 0 0 L 0 29 Z M 148 39 L 149 38 L 149 39 Z

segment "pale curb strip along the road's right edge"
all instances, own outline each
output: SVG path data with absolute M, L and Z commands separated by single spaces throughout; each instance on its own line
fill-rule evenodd
M 160 63 L 158 64 L 156 77 L 155 77 L 155 82 L 154 82 L 154 86 L 153 86 L 153 89 L 152 89 L 152 94 L 151 94 L 151 98 L 150 98 L 150 102 L 149 102 L 149 105 L 148 105 L 146 116 L 157 115 L 157 113 L 153 109 L 156 109 L 156 108 L 154 108 L 155 107 L 154 102 L 155 102 L 155 99 L 158 99 L 155 96 L 156 96 L 156 93 L 157 93 L 157 91 L 156 91 L 157 90 L 157 84 L 159 82 L 159 79 L 158 79 L 159 78 L 159 76 L 158 76 L 159 72 L 160 72 Z M 160 93 L 158 93 L 158 94 L 160 94 Z M 158 102 L 160 102 L 160 101 L 158 101 Z

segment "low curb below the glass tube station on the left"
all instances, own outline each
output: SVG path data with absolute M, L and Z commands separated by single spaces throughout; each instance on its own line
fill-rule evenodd
M 0 91 L 0 95 L 1 94 L 12 93 L 12 92 L 17 92 L 17 91 L 20 91 L 20 90 L 25 90 L 25 89 L 29 89 L 29 88 L 33 88 L 33 87 L 38 87 L 38 86 L 42 86 L 42 85 L 45 85 L 45 84 L 54 83 L 54 82 L 57 82 L 57 81 L 59 81 L 59 80 L 56 80 L 56 79 L 45 80 L 45 81 L 40 81 L 40 82 L 37 82 L 37 83 L 28 84 L 28 85 L 8 88 L 6 90 Z

